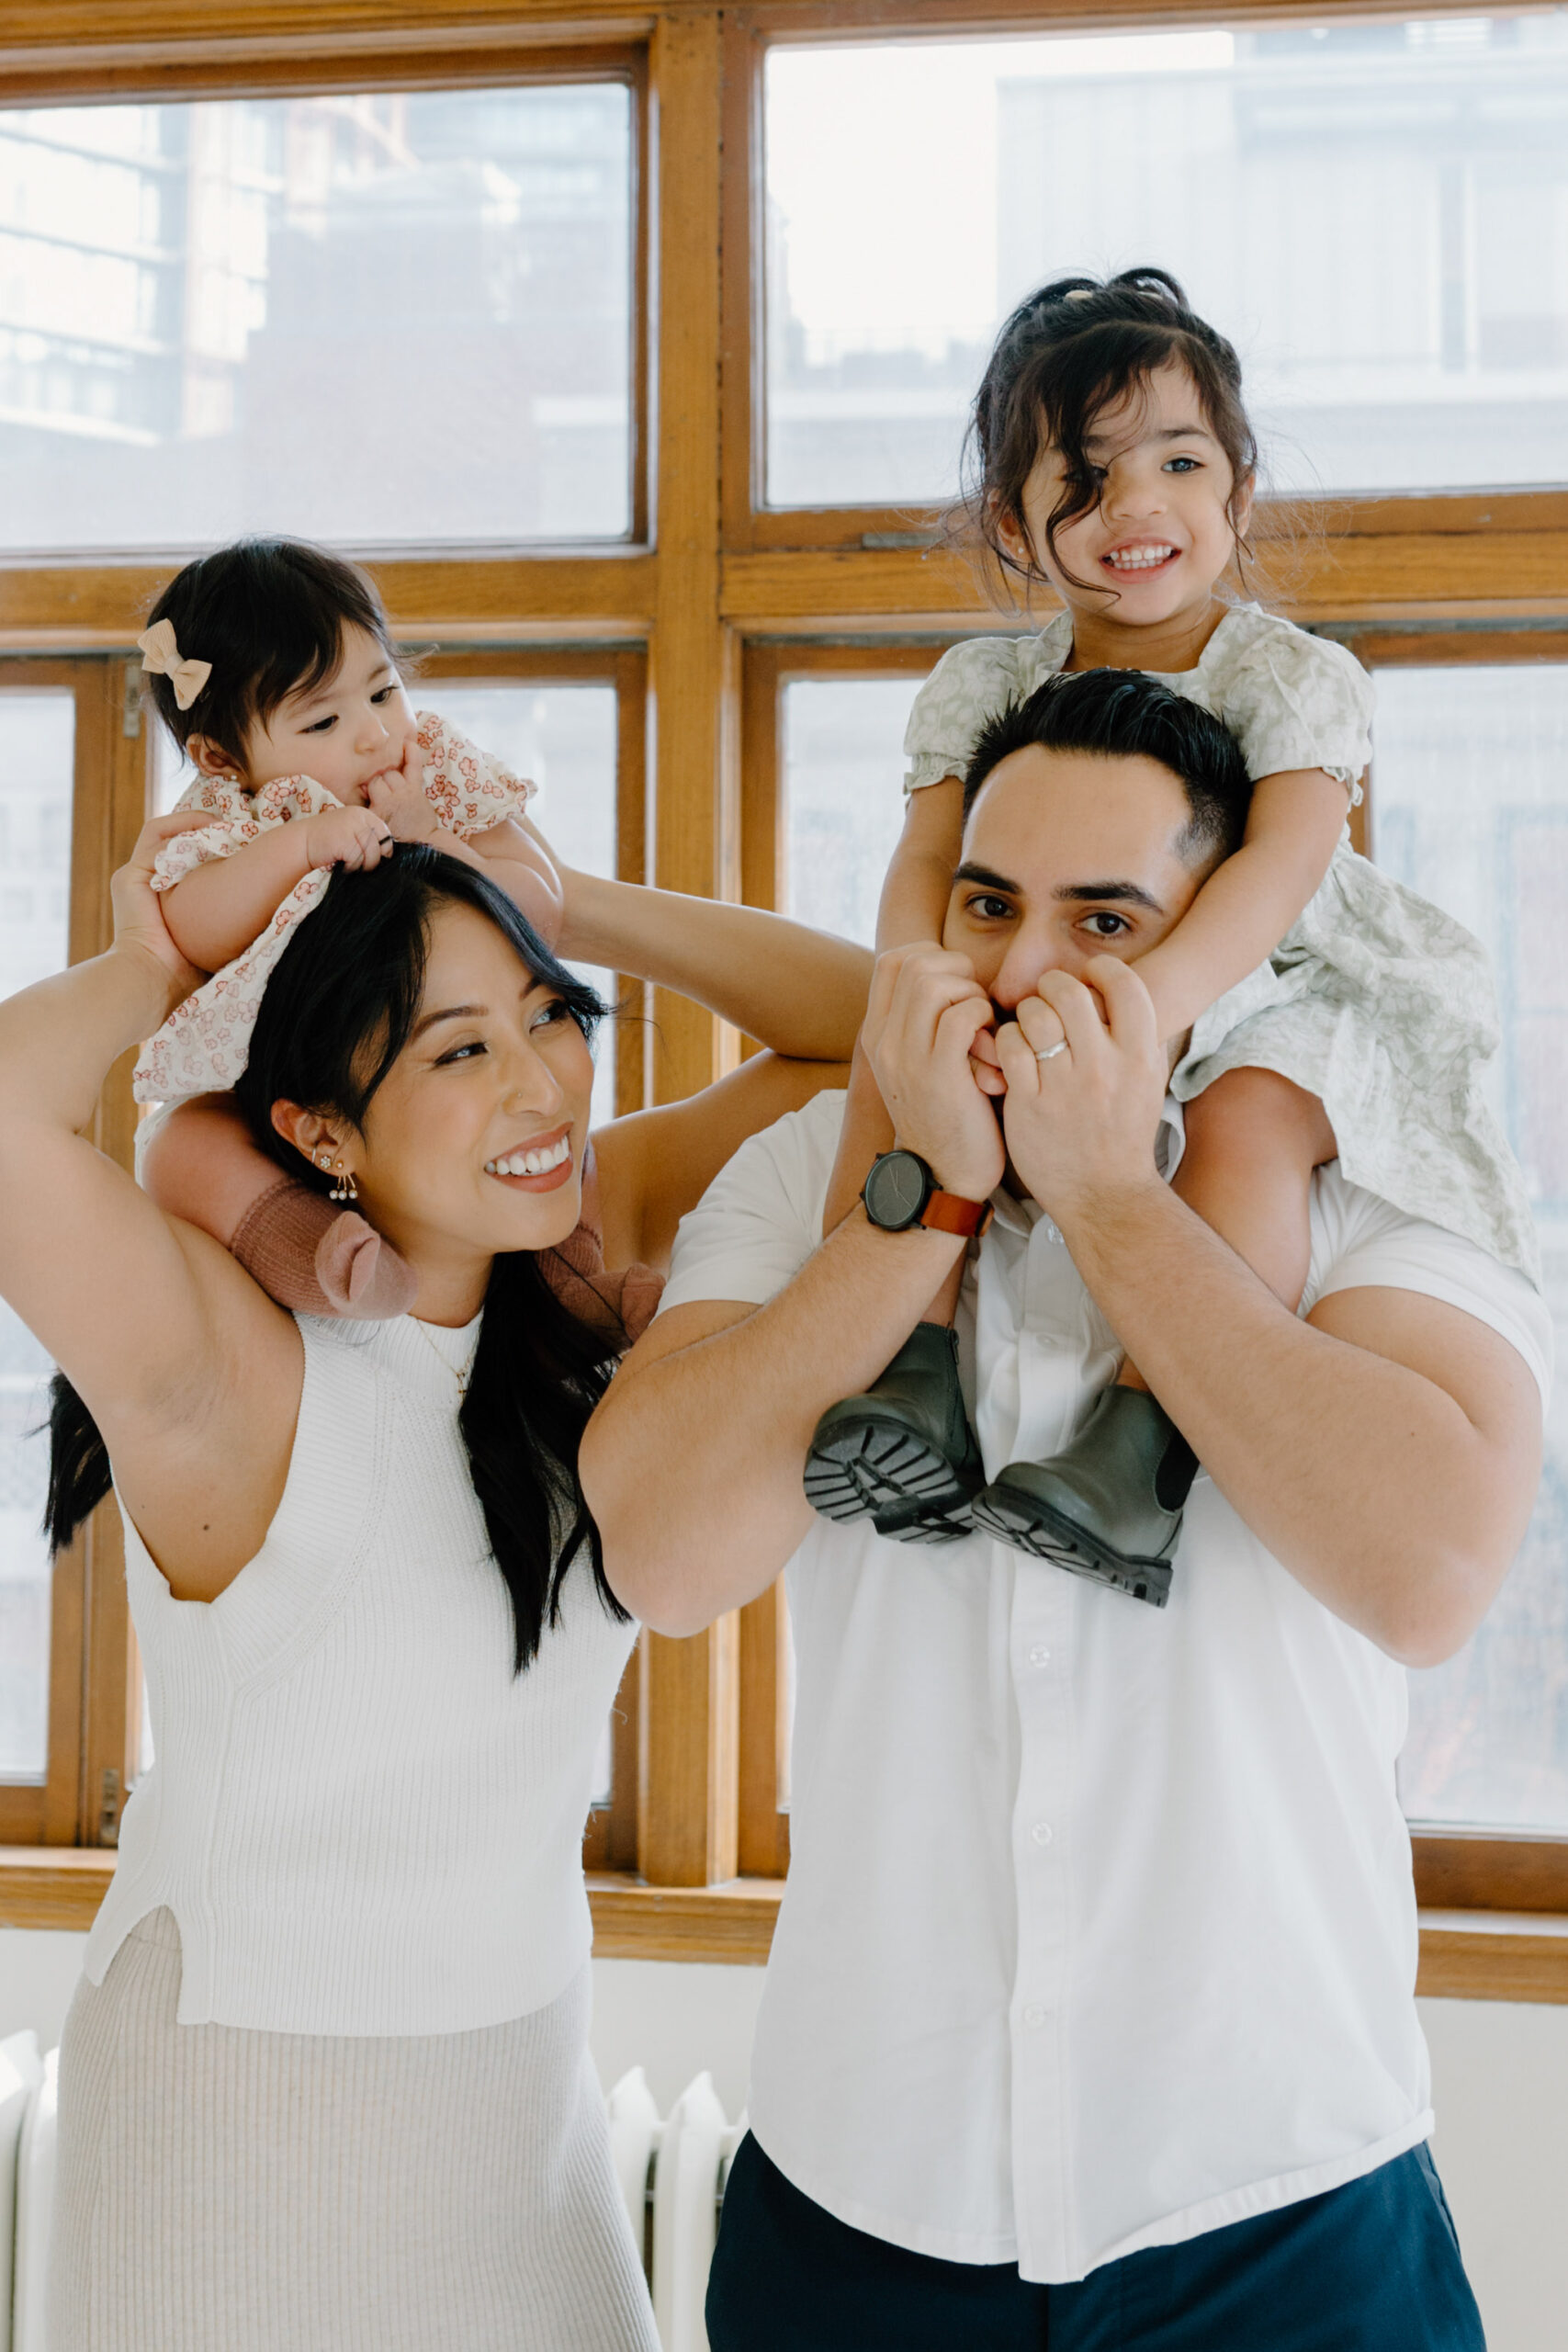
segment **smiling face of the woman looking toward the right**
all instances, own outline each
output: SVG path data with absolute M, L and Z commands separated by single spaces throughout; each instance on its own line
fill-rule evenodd
M 364 1216 L 421 1272 L 564 1242 L 590 1096 L 562 997 L 484 915 L 440 906 L 409 1042 L 343 1145 Z

